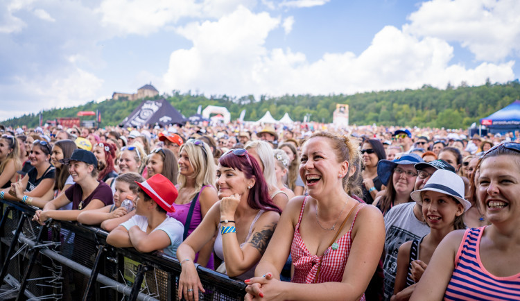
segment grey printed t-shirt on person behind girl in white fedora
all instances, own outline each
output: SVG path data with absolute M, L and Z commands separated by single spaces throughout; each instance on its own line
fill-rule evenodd
M 385 214 L 385 300 L 390 300 L 394 293 L 395 274 L 397 273 L 397 252 L 406 241 L 419 239 L 430 233 L 430 227 L 419 221 L 413 214 L 415 202 L 392 207 Z

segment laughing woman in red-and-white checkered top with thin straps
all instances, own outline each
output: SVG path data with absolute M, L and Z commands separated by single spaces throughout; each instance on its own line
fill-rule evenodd
M 383 251 L 381 212 L 345 193 L 349 162 L 358 155 L 348 137 L 320 132 L 304 141 L 300 175 L 309 196 L 287 205 L 246 300 L 363 300 Z M 279 273 L 291 252 L 291 283 Z

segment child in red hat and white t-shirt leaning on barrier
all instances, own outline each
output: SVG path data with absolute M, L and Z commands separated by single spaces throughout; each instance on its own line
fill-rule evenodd
M 133 247 L 146 253 L 163 250 L 175 257 L 177 247 L 182 243 L 184 227 L 166 213 L 175 212 L 173 202 L 177 198 L 177 189 L 160 173 L 137 184 L 135 216 L 112 230 L 107 243 L 116 248 Z

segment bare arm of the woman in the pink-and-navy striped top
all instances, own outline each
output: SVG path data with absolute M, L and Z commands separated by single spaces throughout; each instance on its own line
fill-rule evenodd
M 433 252 L 410 300 L 442 300 L 455 268 L 455 257 L 465 230 L 450 232 Z

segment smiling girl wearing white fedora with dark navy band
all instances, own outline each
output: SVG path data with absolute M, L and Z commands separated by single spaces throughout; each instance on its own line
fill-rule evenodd
M 465 229 L 462 214 L 471 207 L 465 200 L 464 182 L 456 173 L 438 170 L 431 175 L 423 189 L 411 193 L 422 205 L 422 214 L 430 233 L 422 239 L 407 241 L 399 247 L 394 295 L 397 299 L 409 298 L 415 283 L 428 266 L 433 251 L 449 232 Z

